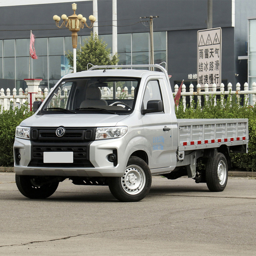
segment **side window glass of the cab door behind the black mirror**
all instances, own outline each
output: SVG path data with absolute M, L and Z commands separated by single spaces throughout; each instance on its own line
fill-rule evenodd
M 151 80 L 147 83 L 143 97 L 142 109 L 147 109 L 147 103 L 151 100 L 162 101 L 161 91 L 157 80 Z

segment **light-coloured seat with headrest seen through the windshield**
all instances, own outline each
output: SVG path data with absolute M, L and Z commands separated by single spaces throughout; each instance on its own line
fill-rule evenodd
M 88 87 L 85 91 L 85 100 L 80 104 L 80 108 L 107 105 L 108 103 L 101 99 L 101 92 L 99 87 Z

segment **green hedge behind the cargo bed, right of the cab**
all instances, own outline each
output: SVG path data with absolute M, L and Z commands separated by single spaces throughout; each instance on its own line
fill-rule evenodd
M 176 116 L 177 118 L 248 118 L 248 154 L 231 154 L 231 162 L 232 168 L 256 171 L 256 106 L 247 106 L 247 102 L 241 104 L 241 100 L 236 95 L 228 95 L 226 99 L 221 96 L 221 99 L 216 100 L 216 105 L 214 100 L 216 100 L 215 96 L 209 97 L 208 101 L 204 98 L 203 106 L 193 101 L 184 112 L 180 102 L 179 108 L 176 108 Z

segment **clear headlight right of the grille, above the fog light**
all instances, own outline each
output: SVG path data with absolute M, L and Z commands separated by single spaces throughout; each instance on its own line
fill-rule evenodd
M 120 138 L 127 130 L 127 126 L 99 127 L 96 130 L 95 140 Z

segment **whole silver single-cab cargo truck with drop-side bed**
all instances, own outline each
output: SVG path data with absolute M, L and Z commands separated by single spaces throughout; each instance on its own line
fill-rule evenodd
M 68 74 L 33 111 L 16 128 L 13 147 L 16 184 L 28 198 L 47 198 L 70 179 L 139 201 L 159 174 L 187 175 L 222 191 L 229 153 L 247 152 L 247 119 L 176 119 L 169 77 L 159 65 Z

